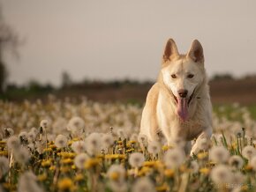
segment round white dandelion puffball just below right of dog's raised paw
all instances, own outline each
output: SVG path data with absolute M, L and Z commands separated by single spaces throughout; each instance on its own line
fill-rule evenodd
M 209 151 L 209 159 L 216 163 L 227 162 L 230 158 L 230 151 L 223 146 L 213 146 Z

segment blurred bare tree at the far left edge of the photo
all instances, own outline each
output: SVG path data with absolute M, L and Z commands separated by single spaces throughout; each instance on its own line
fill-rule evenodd
M 4 92 L 4 85 L 8 77 L 8 70 L 4 63 L 4 51 L 11 50 L 11 53 L 18 56 L 17 48 L 19 45 L 19 37 L 13 32 L 11 26 L 4 22 L 2 9 L 0 7 L 0 94 Z

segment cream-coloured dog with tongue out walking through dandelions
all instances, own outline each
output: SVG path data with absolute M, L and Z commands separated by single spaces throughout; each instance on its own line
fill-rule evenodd
M 159 76 L 142 111 L 140 134 L 148 141 L 159 140 L 162 133 L 169 145 L 183 141 L 184 151 L 192 155 L 200 151 L 200 139 L 211 137 L 212 104 L 204 62 L 200 41 L 192 41 L 185 55 L 178 53 L 175 41 L 167 41 Z

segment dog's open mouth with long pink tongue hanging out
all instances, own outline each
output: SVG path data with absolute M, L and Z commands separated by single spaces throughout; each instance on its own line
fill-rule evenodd
M 182 121 L 186 121 L 188 118 L 188 107 L 190 102 L 192 101 L 192 98 L 194 96 L 194 91 L 192 92 L 192 95 L 189 98 L 177 98 L 173 93 L 174 100 L 177 102 L 177 114 L 180 117 Z

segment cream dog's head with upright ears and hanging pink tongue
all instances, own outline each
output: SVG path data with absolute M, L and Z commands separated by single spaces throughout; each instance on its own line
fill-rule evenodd
M 172 92 L 177 114 L 185 121 L 194 93 L 205 78 L 203 48 L 194 40 L 186 55 L 180 55 L 175 41 L 169 39 L 162 58 L 162 80 Z

